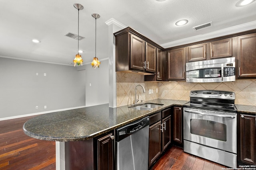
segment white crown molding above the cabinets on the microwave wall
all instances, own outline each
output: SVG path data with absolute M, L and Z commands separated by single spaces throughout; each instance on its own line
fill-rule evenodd
M 213 31 L 213 32 L 206 33 L 206 34 L 201 34 L 201 35 L 196 35 L 196 36 L 193 36 L 193 37 L 179 39 L 177 41 L 172 41 L 172 42 L 169 42 L 169 43 L 160 44 L 160 46 L 162 46 L 164 48 L 170 48 L 170 47 L 175 47 L 175 46 L 178 46 L 178 45 L 194 43 L 194 42 L 197 42 L 197 41 L 202 41 L 202 40 L 206 40 L 206 39 L 220 37 L 220 36 L 224 36 L 224 35 L 228 35 L 228 34 L 248 31 L 250 29 L 256 29 L 256 21 L 236 25 L 236 26 L 233 26 L 233 27 L 228 27 L 228 28 L 225 28 L 225 29 L 220 29 L 218 31 Z

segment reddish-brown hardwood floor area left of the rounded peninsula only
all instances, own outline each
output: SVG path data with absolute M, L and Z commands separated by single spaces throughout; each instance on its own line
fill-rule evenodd
M 28 137 L 22 130 L 31 117 L 0 121 L 0 170 L 55 170 L 55 142 Z

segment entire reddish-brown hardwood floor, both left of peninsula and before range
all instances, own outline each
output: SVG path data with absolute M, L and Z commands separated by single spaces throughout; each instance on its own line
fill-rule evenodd
M 34 117 L 34 116 L 32 116 Z M 55 170 L 55 142 L 28 137 L 23 124 L 32 117 L 0 121 L 0 170 Z M 172 147 L 151 170 L 222 170 L 227 168 Z

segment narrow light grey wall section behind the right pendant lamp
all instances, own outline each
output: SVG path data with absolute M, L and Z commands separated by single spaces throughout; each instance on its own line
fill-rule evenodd
M 100 59 L 99 59 L 100 60 Z M 108 60 L 100 61 L 100 68 L 86 64 L 86 107 L 108 103 Z M 91 84 L 91 86 L 90 86 Z

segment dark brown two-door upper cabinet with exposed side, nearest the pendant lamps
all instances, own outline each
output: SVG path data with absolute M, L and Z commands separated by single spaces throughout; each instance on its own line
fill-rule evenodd
M 116 71 L 156 74 L 156 49 L 160 47 L 130 27 L 114 33 Z

